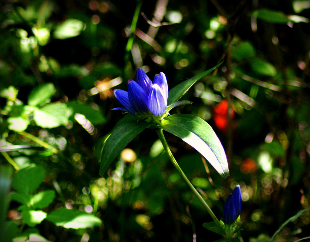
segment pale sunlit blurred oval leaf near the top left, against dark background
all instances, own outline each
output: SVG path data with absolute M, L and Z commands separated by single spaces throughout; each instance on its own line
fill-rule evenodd
M 55 39 L 68 39 L 78 36 L 85 24 L 81 20 L 67 19 L 63 23 L 59 24 L 54 31 Z

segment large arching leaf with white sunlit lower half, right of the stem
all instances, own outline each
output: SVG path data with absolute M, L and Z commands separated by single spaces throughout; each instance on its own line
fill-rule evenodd
M 201 118 L 189 114 L 174 114 L 163 120 L 161 128 L 193 146 L 216 171 L 226 178 L 229 175 L 224 148 L 211 126 Z

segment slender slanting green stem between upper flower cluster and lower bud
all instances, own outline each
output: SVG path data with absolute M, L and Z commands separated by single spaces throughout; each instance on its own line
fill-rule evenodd
M 174 156 L 172 155 L 167 141 L 165 139 L 165 136 L 162 132 L 162 129 L 157 129 L 156 130 L 158 137 L 160 139 L 160 141 L 162 142 L 162 145 L 170 159 L 170 161 L 172 162 L 172 164 L 175 166 L 175 168 L 177 169 L 177 171 L 179 172 L 180 176 L 182 177 L 182 179 L 184 180 L 184 182 L 188 185 L 188 187 L 193 191 L 193 193 L 197 196 L 197 198 L 199 199 L 199 201 L 202 203 L 202 205 L 205 207 L 205 209 L 207 210 L 207 212 L 210 214 L 210 216 L 213 218 L 214 222 L 221 228 L 221 224 L 219 222 L 219 220 L 216 218 L 216 216 L 214 215 L 214 213 L 212 212 L 212 210 L 210 209 L 209 205 L 206 203 L 206 201 L 202 198 L 202 196 L 199 194 L 199 192 L 196 190 L 196 188 L 192 185 L 192 183 L 188 180 L 188 178 L 186 177 L 186 175 L 184 174 L 183 170 L 181 169 L 181 167 L 179 166 L 178 162 L 175 160 Z

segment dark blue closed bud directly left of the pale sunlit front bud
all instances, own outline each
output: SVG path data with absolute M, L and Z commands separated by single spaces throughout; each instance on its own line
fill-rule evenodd
M 148 111 L 148 95 L 138 83 L 132 80 L 128 81 L 128 98 L 136 113 L 143 114 Z

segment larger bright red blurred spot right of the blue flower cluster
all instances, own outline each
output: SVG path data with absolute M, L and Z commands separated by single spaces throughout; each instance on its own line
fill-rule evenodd
M 230 109 L 230 117 L 235 117 L 235 111 Z M 216 104 L 213 109 L 213 121 L 216 127 L 226 132 L 228 125 L 228 102 L 227 100 L 222 100 L 219 104 Z

